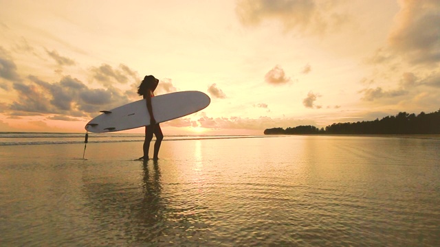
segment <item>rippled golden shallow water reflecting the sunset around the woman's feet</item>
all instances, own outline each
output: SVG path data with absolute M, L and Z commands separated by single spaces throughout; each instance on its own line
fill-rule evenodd
M 0 147 L 0 243 L 439 246 L 440 139 Z

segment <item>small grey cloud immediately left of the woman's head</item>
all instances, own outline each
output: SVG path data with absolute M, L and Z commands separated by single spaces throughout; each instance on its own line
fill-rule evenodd
M 140 81 L 137 73 L 124 64 L 120 64 L 119 68 L 115 69 L 109 64 L 102 64 L 100 67 L 92 67 L 91 72 L 93 78 L 104 86 L 111 86 L 115 82 L 125 84 L 130 79 Z

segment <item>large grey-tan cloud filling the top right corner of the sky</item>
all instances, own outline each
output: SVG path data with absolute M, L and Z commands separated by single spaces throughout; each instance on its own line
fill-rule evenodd
M 401 0 L 393 30 L 391 49 L 412 63 L 440 62 L 440 1 Z

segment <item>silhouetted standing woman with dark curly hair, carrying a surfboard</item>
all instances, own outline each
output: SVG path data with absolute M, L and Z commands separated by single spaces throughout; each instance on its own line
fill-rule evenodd
M 156 89 L 157 84 L 159 84 L 159 80 L 153 75 L 146 75 L 140 86 L 137 88 L 137 94 L 142 95 L 144 99 L 146 99 L 146 109 L 150 115 L 150 126 L 145 126 L 144 156 L 140 157 L 140 159 L 142 158 L 145 161 L 148 160 L 148 150 L 150 149 L 151 139 L 153 139 L 153 133 L 156 136 L 153 154 L 154 160 L 159 159 L 160 143 L 162 143 L 162 139 L 164 139 L 164 134 L 162 134 L 159 124 L 156 124 L 156 120 L 153 116 L 153 108 L 151 107 L 151 97 L 154 97 L 153 92 Z

